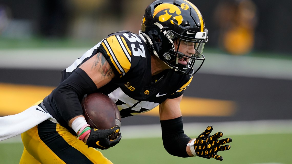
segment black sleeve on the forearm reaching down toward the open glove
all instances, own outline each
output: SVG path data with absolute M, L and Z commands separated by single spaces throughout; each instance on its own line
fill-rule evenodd
M 173 156 L 190 157 L 187 154 L 187 143 L 191 138 L 183 131 L 182 116 L 171 120 L 160 121 L 164 149 Z

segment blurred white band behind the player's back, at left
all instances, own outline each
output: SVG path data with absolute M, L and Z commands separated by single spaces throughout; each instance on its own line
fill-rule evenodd
M 0 68 L 65 69 L 87 50 L 72 49 L 17 49 L 0 50 Z

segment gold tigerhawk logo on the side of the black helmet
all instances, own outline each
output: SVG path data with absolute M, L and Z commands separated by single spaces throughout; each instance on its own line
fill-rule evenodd
M 189 8 L 189 6 L 187 4 L 182 4 L 181 8 L 183 10 L 187 10 Z M 178 22 L 178 25 L 180 25 L 183 22 L 183 16 L 180 15 L 181 11 L 180 11 L 180 8 L 178 8 L 178 6 L 175 6 L 173 4 L 158 5 L 154 9 L 153 18 L 161 11 L 164 12 L 165 14 L 159 16 L 158 20 L 160 22 L 165 22 L 171 18 L 173 20 L 176 20 Z M 170 22 L 171 22 L 171 24 L 175 25 L 173 20 L 170 20 Z

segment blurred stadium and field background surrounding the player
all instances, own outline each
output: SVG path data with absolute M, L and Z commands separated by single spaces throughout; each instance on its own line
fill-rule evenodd
M 292 1 L 190 1 L 204 17 L 209 43 L 181 104 L 185 132 L 196 137 L 211 124 L 231 135 L 225 163 L 292 163 Z M 0 0 L 0 116 L 48 95 L 60 71 L 107 34 L 138 33 L 151 2 Z M 122 125 L 124 140 L 103 151 L 114 163 L 192 162 L 164 151 L 157 109 L 124 118 Z M 142 146 L 144 156 L 136 155 Z M 1 161 L 17 163 L 22 149 L 19 136 L 0 142 Z M 120 160 L 111 157 L 115 152 Z

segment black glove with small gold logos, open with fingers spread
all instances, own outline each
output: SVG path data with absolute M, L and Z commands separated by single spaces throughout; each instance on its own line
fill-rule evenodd
M 225 138 L 218 141 L 223 136 L 222 132 L 218 132 L 214 135 L 210 135 L 213 130 L 213 126 L 208 126 L 206 130 L 201 133 L 194 142 L 194 149 L 197 156 L 208 158 L 211 157 L 217 160 L 223 160 L 222 156 L 217 155 L 218 151 L 229 150 L 230 145 L 223 145 L 232 141 L 231 138 Z

